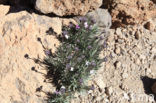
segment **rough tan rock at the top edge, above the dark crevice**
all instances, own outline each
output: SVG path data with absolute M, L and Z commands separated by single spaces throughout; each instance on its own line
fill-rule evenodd
M 59 16 L 85 15 L 97 9 L 102 0 L 36 0 L 35 8 L 44 14 L 54 13 Z

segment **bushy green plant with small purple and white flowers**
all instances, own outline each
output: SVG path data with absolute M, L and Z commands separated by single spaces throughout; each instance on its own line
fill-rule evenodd
M 55 56 L 46 51 L 45 64 L 58 85 L 50 103 L 67 103 L 74 92 L 94 89 L 87 85 L 87 80 L 100 68 L 99 54 L 106 47 L 106 43 L 100 44 L 103 37 L 95 23 L 93 18 L 80 17 L 79 24 L 70 23 L 63 28 L 62 45 Z

